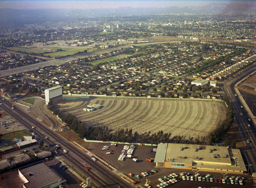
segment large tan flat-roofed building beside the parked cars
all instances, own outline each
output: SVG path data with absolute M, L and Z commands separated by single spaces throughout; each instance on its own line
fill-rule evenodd
M 159 144 L 155 162 L 158 168 L 241 174 L 247 171 L 240 150 L 223 146 Z

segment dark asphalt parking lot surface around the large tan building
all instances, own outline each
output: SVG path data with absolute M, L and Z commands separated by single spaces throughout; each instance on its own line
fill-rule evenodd
M 133 173 L 135 175 L 140 175 L 142 178 L 138 179 L 136 177 L 132 177 L 131 179 L 139 181 L 138 184 L 144 185 L 146 179 L 150 179 L 151 185 L 156 187 L 157 184 L 160 183 L 159 178 L 163 178 L 164 176 L 168 176 L 169 174 L 176 173 L 180 175 L 181 172 L 189 172 L 191 176 L 195 176 L 195 172 L 191 170 L 182 170 L 182 169 L 162 169 L 156 168 L 154 162 L 146 161 L 146 158 L 155 158 L 155 152 L 151 152 L 150 150 L 156 147 L 153 146 L 139 146 L 135 145 L 136 149 L 134 150 L 133 157 L 138 158 L 138 162 L 133 162 L 132 158 L 125 158 L 124 161 L 118 161 L 118 158 L 123 150 L 123 144 L 118 144 L 116 147 L 110 147 L 109 150 L 102 150 L 104 146 L 111 146 L 111 144 L 106 143 L 91 143 L 91 148 L 94 148 L 92 152 L 95 154 L 97 158 L 102 158 L 106 162 L 110 163 L 112 166 L 117 168 L 120 172 L 128 175 L 129 173 Z M 106 152 L 111 150 L 111 154 L 106 154 Z M 99 157 L 100 156 L 100 157 Z M 141 175 L 142 172 L 149 172 L 151 170 L 157 170 L 157 173 L 152 173 L 152 175 L 143 177 Z M 203 172 L 199 171 L 201 174 L 211 174 L 213 178 L 223 179 L 223 175 L 220 172 Z M 250 178 L 245 174 L 231 174 L 228 173 L 228 176 L 243 176 L 246 178 Z M 181 178 L 181 176 L 179 176 Z M 181 178 L 182 179 L 182 178 Z M 203 182 L 203 181 L 187 181 L 181 180 L 172 185 L 172 187 L 252 187 L 252 183 L 245 181 L 244 185 L 234 185 L 234 184 L 222 184 L 222 183 L 214 183 L 214 182 Z

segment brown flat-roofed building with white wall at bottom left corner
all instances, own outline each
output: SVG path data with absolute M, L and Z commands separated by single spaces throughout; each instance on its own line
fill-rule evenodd
M 18 170 L 18 175 L 24 181 L 23 187 L 26 188 L 54 188 L 66 181 L 44 162 Z

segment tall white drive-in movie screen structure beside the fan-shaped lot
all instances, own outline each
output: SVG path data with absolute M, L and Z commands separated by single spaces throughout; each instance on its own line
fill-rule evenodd
M 62 86 L 55 86 L 49 89 L 45 89 L 46 104 L 50 101 L 58 103 L 62 101 Z

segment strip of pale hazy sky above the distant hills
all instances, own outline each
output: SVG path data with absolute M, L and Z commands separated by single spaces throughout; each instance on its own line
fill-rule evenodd
M 222 0 L 222 1 L 172 1 L 172 0 L 165 0 L 165 1 L 143 1 L 143 0 L 132 0 L 132 1 L 66 1 L 66 0 L 59 0 L 59 1 L 37 1 L 37 0 L 30 0 L 30 1 L 3 1 L 0 0 L 0 8 L 11 8 L 11 9 L 50 9 L 50 8 L 57 8 L 57 9 L 96 9 L 96 8 L 119 8 L 119 7 L 173 7 L 173 6 L 198 6 L 204 5 L 209 3 L 230 3 L 231 0 Z

